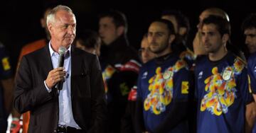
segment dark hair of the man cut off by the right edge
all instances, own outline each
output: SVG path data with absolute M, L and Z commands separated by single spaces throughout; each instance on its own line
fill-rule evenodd
M 256 28 L 256 13 L 251 13 L 245 18 L 245 21 L 242 22 L 242 31 L 249 28 Z

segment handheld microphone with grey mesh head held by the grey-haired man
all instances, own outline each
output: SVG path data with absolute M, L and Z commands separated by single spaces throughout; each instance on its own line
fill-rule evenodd
M 58 53 L 60 54 L 59 58 L 58 58 L 58 67 L 63 67 L 64 65 L 64 59 L 65 59 L 65 53 L 67 52 L 67 49 L 63 46 L 60 46 L 58 49 Z M 57 88 L 58 90 L 62 90 L 63 88 L 63 81 L 59 81 L 55 88 Z

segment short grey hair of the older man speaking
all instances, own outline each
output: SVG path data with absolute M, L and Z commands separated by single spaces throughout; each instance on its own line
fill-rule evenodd
M 49 23 L 54 23 L 55 21 L 55 15 L 58 11 L 68 11 L 69 13 L 72 13 L 74 16 L 75 14 L 73 13 L 73 11 L 71 10 L 71 8 L 69 8 L 68 6 L 63 6 L 63 5 L 58 5 L 55 8 L 53 8 L 52 11 L 50 11 L 50 13 L 48 13 L 47 19 L 46 19 L 46 23 L 47 25 Z

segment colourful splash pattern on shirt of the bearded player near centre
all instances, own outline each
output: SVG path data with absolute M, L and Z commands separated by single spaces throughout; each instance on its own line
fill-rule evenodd
M 176 64 L 169 67 L 162 73 L 161 67 L 156 68 L 156 74 L 149 79 L 149 91 L 144 100 L 144 110 L 151 110 L 155 115 L 166 110 L 166 106 L 171 103 L 174 88 L 174 74 L 186 67 L 186 62 L 178 60 Z

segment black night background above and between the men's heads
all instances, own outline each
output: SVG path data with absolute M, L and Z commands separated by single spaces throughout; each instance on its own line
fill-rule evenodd
M 14 68 L 21 47 L 28 42 L 44 37 L 44 30 L 40 25 L 43 5 L 54 1 L 0 1 L 0 41 L 6 45 L 11 55 Z M 242 20 L 249 14 L 256 12 L 252 1 L 214 1 L 214 0 L 154 0 L 154 1 L 92 1 L 65 0 L 59 4 L 69 6 L 77 17 L 77 32 L 82 29 L 97 30 L 97 15 L 109 8 L 117 9 L 126 14 L 128 20 L 128 37 L 130 45 L 138 48 L 142 35 L 149 23 L 159 18 L 161 11 L 177 9 L 188 16 L 191 23 L 191 37 L 196 33 L 196 24 L 201 11 L 208 7 L 218 7 L 226 11 L 232 26 L 231 40 L 233 45 L 244 50 L 244 37 L 240 30 Z

